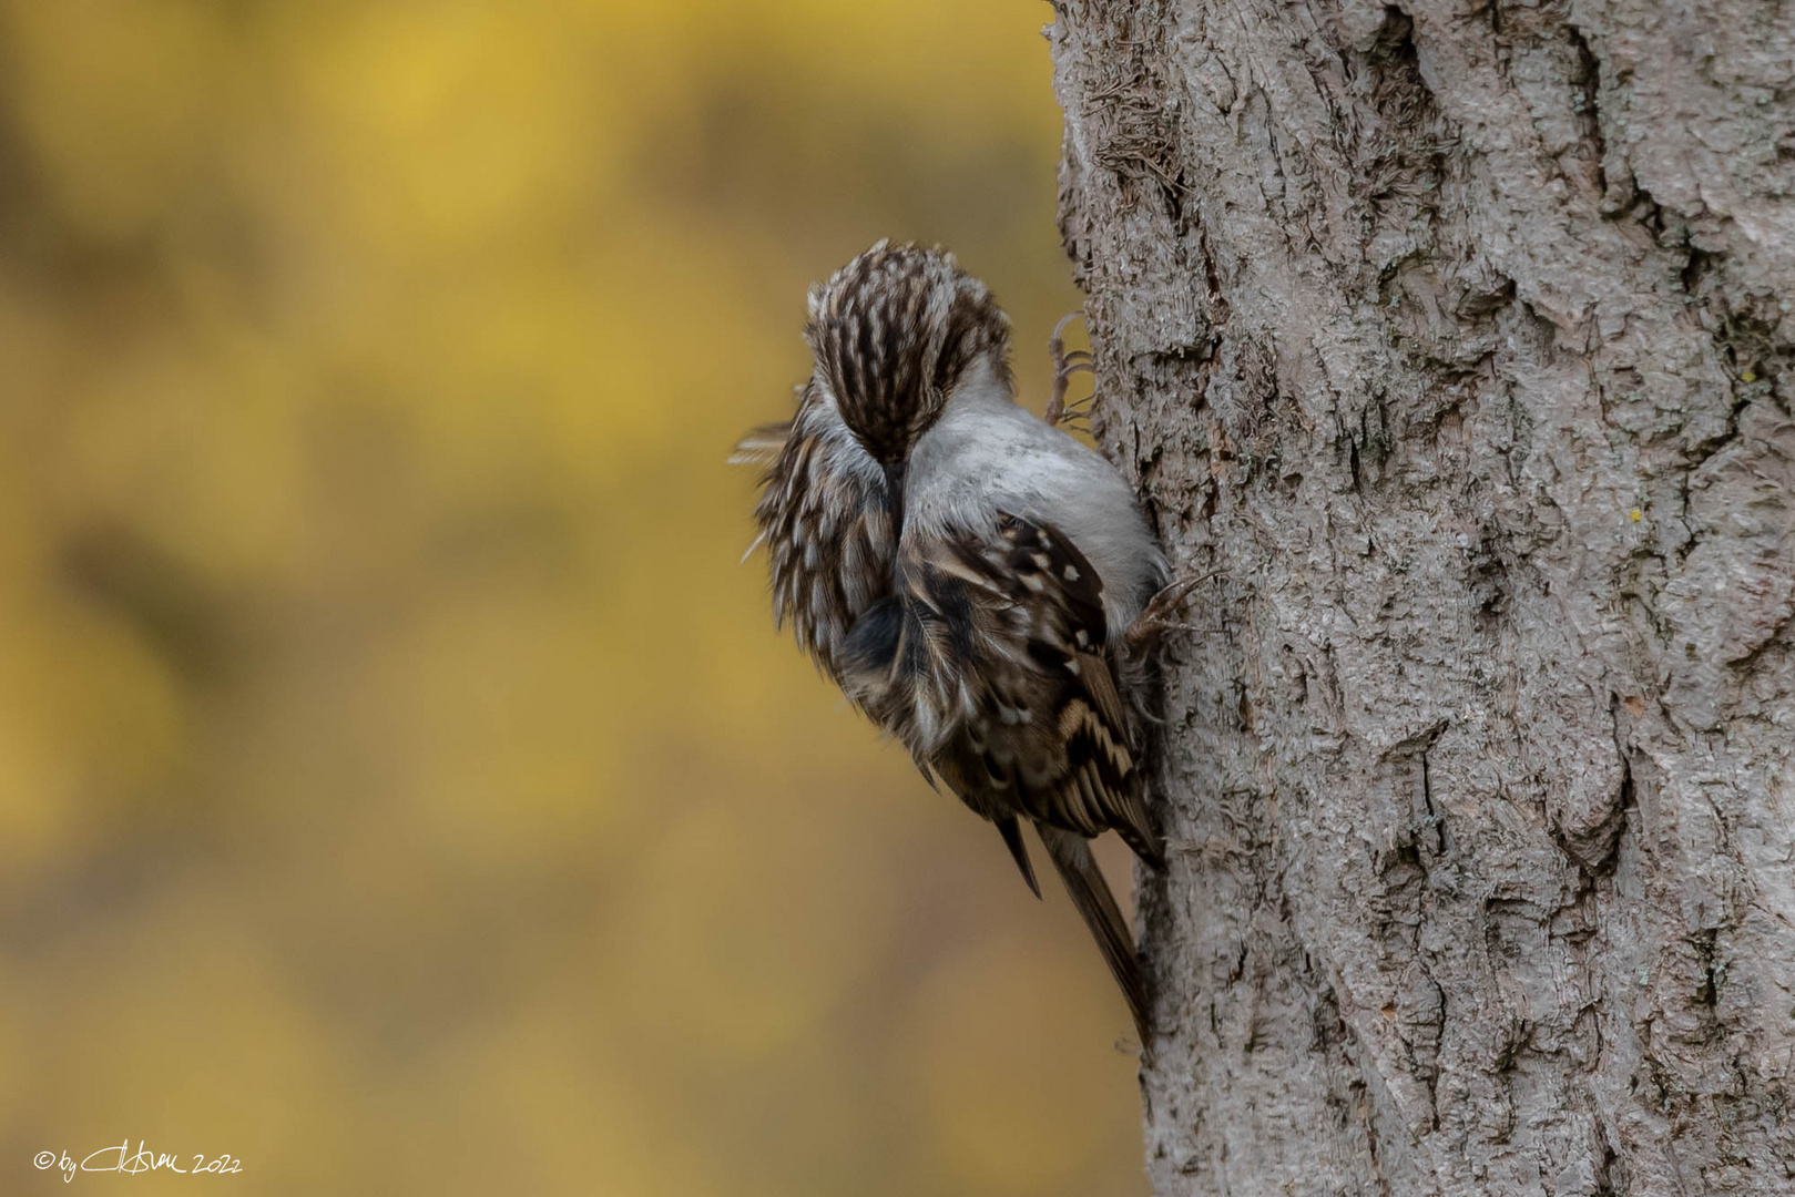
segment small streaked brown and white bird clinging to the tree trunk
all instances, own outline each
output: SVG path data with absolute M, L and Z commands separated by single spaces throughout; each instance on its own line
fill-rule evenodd
M 951 255 L 881 240 L 811 289 L 804 337 L 797 413 L 732 458 L 766 467 L 774 616 L 996 826 L 1039 896 L 1034 824 L 1147 1044 L 1134 940 L 1090 838 L 1115 829 L 1165 863 L 1136 754 L 1145 644 L 1183 587 L 1163 589 L 1115 467 L 1016 406 L 1009 319 Z M 1055 332 L 1055 416 L 1064 363 Z

